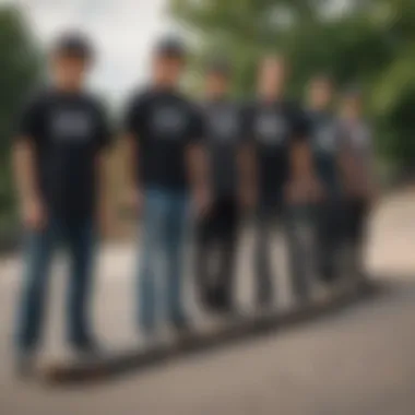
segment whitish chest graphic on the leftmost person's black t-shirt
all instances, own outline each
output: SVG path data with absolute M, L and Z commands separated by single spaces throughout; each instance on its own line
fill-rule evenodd
M 87 141 L 92 137 L 91 114 L 80 110 L 60 110 L 51 118 L 52 137 L 59 141 Z

